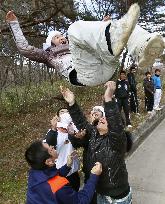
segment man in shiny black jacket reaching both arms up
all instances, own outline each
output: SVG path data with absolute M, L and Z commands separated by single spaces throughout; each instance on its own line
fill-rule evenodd
M 126 135 L 120 112 L 113 100 L 116 84 L 109 81 L 105 86 L 107 87 L 104 94 L 105 117 L 99 120 L 97 126 L 91 125 L 86 120 L 69 89 L 61 87 L 61 93 L 69 104 L 68 110 L 74 124 L 79 130 L 86 129 L 89 137 L 88 171 L 96 161 L 103 164 L 102 176 L 96 188 L 98 204 L 117 203 L 119 200 L 120 204 L 131 204 L 132 196 L 124 160 Z

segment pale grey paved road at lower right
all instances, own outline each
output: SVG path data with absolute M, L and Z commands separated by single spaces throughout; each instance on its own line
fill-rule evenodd
M 165 119 L 126 163 L 133 204 L 165 204 Z

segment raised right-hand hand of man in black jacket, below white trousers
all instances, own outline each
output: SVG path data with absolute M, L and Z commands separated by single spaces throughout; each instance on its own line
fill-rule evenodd
M 114 81 L 108 81 L 104 86 L 107 87 L 104 94 L 105 102 L 112 101 L 114 92 L 116 90 L 116 83 Z

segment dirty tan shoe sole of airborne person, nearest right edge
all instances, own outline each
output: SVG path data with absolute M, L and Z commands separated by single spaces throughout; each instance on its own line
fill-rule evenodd
M 161 56 L 164 50 L 164 41 L 160 35 L 151 37 L 149 40 L 142 59 L 139 61 L 140 68 L 147 68 L 152 66 L 155 62 L 155 59 Z

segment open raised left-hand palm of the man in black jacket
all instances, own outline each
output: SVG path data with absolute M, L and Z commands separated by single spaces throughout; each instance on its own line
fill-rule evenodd
M 75 96 L 68 88 L 60 86 L 61 94 L 63 95 L 66 102 L 69 103 L 69 106 L 72 106 L 75 103 Z

